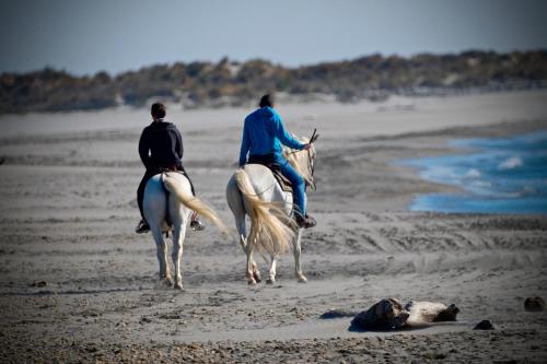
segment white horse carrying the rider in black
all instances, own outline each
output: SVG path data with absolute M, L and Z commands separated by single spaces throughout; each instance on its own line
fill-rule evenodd
M 150 225 L 158 248 L 160 261 L 160 280 L 171 285 L 171 269 L 167 265 L 167 244 L 162 233 L 168 232 L 167 216 L 173 224 L 173 263 L 175 266 L 175 289 L 183 289 L 181 258 L 186 225 L 191 211 L 196 211 L 211 221 L 221 231 L 226 228 L 217 213 L 201 200 L 191 195 L 190 183 L 186 176 L 177 172 L 158 174 L 150 178 L 144 188 L 144 218 Z

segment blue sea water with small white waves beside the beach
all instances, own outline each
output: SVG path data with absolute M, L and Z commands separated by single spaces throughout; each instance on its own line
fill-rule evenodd
M 405 160 L 423 179 L 454 185 L 462 193 L 416 198 L 410 210 L 478 213 L 547 213 L 547 130 L 512 138 L 451 143 L 467 154 Z

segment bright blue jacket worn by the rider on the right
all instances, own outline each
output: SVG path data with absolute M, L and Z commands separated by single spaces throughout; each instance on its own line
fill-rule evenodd
M 292 149 L 302 150 L 304 144 L 284 130 L 279 114 L 269 106 L 261 107 L 245 118 L 240 152 L 240 166 L 249 155 L 274 154 L 281 157 L 281 143 Z

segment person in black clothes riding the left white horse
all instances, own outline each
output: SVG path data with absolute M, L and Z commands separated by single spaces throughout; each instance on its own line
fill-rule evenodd
M 150 231 L 150 226 L 144 220 L 142 213 L 142 200 L 144 198 L 144 187 L 148 180 L 164 171 L 179 171 L 188 178 L 191 186 L 191 193 L 195 196 L 194 185 L 183 167 L 183 138 L 174 124 L 167 122 L 165 118 L 165 106 L 155 103 L 151 108 L 151 125 L 142 130 L 139 141 L 139 155 L 147 168 L 144 176 L 137 190 L 137 202 L 139 204 L 142 220 L 136 228 L 137 233 Z M 196 212 L 191 215 L 190 227 L 194 230 L 203 230 L 203 224 L 197 219 Z

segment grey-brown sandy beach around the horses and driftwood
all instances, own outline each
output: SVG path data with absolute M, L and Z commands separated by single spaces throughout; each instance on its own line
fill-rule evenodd
M 408 212 L 417 193 L 453 187 L 393 161 L 545 129 L 546 102 L 538 91 L 280 105 L 290 130 L 321 133 L 309 283 L 287 255 L 275 285 L 248 286 L 235 237 L 208 227 L 187 235 L 182 292 L 156 284 L 152 237 L 132 232 L 147 110 L 3 116 L 0 362 L 545 362 L 547 313 L 523 302 L 547 297 L 547 216 Z M 230 224 L 224 187 L 247 111 L 170 110 L 199 196 Z M 319 319 L 388 296 L 462 312 L 395 333 Z M 474 331 L 482 319 L 496 330 Z

